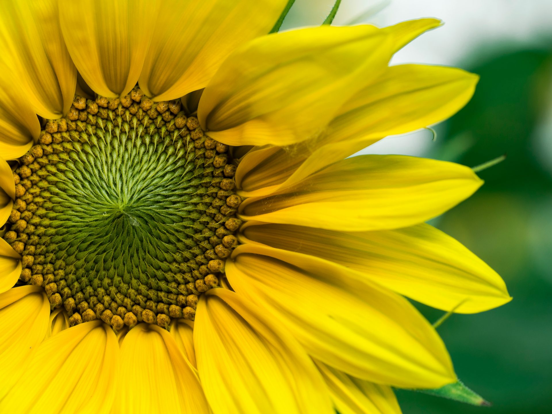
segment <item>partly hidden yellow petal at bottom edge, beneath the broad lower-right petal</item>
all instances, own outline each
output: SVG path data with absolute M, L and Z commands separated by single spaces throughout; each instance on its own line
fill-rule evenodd
M 339 414 L 401 414 L 390 386 L 354 378 L 318 361 L 316 365 Z

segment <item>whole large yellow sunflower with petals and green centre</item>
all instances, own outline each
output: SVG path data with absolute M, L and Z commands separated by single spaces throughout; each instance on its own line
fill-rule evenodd
M 285 6 L 3 3 L 1 412 L 397 413 L 457 381 L 405 296 L 510 300 L 424 224 L 482 181 L 348 157 L 477 76 L 388 66 L 439 20 L 268 34 Z

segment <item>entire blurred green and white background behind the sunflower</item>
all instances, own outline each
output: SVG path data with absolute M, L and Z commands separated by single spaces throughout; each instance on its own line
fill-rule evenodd
M 284 28 L 320 24 L 332 3 L 297 0 Z M 513 296 L 498 309 L 453 315 L 439 327 L 459 378 L 493 406 L 399 390 L 405 414 L 552 413 L 551 6 L 548 0 L 343 0 L 336 17 L 337 24 L 379 26 L 444 18 L 443 28 L 422 35 L 394 62 L 454 65 L 481 76 L 471 102 L 436 127 L 436 142 L 425 131 L 388 138 L 365 153 L 470 167 L 507 155 L 479 173 L 485 185 L 473 197 L 432 223 L 489 263 Z M 418 307 L 430 321 L 443 313 Z

